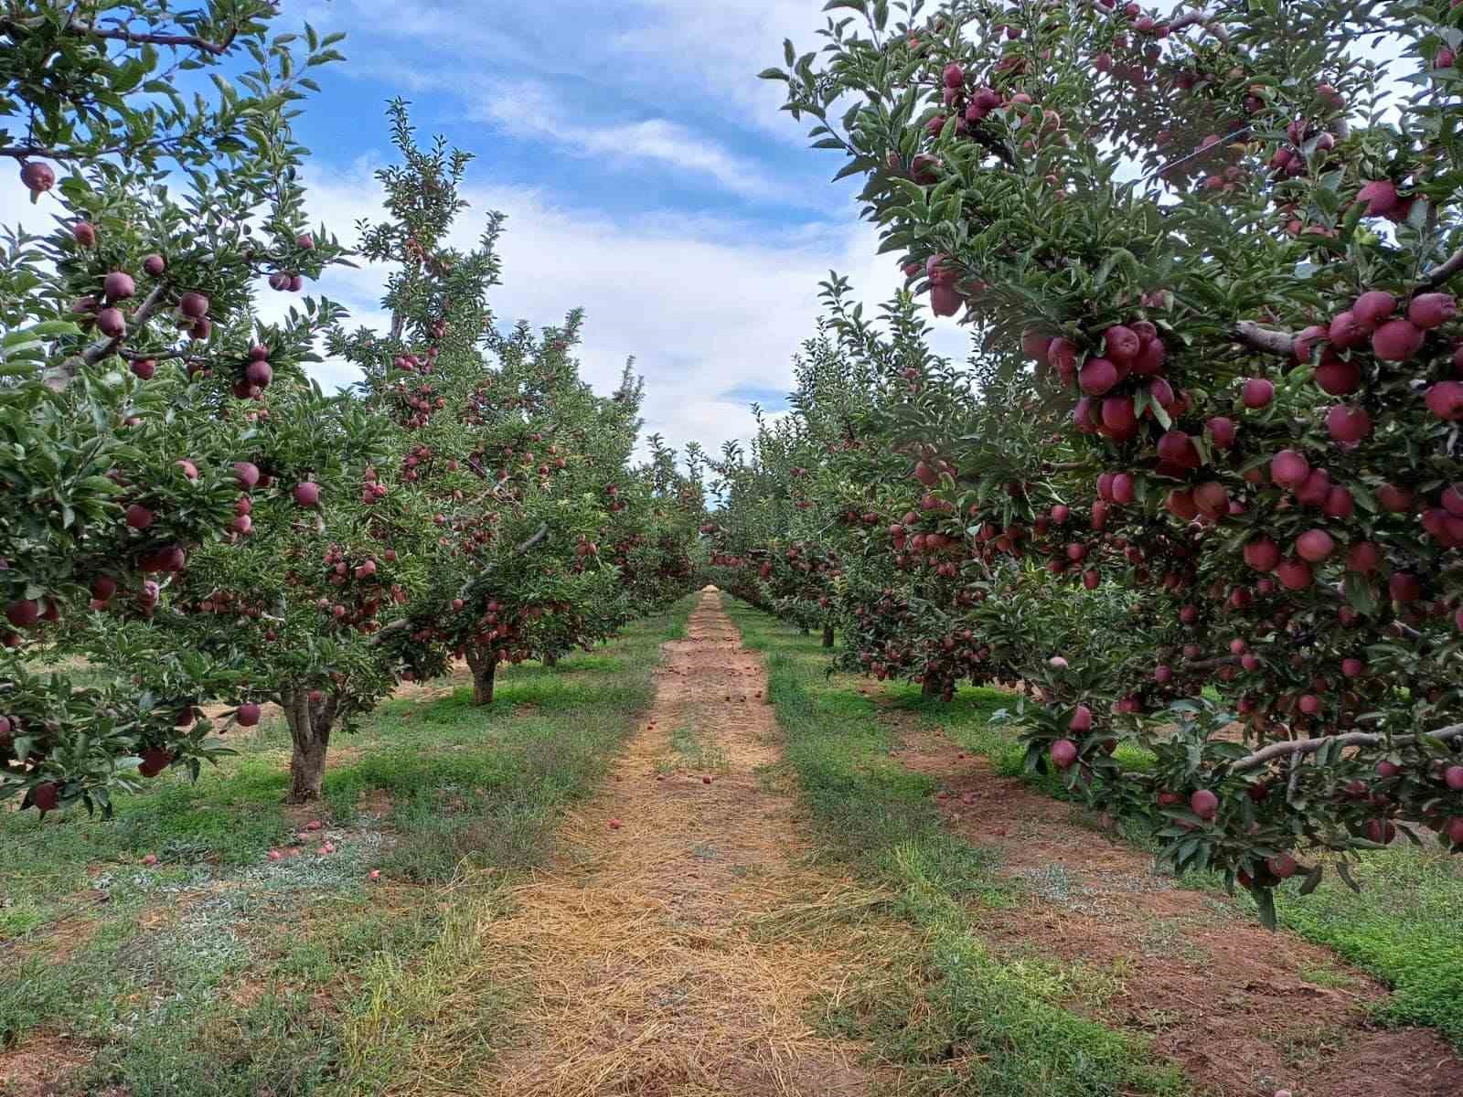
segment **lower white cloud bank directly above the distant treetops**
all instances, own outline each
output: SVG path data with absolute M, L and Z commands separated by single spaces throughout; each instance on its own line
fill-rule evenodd
M 377 209 L 363 165 L 307 186 L 312 215 L 331 227 Z M 875 255 L 869 225 L 811 224 L 770 237 L 765 228 L 698 218 L 610 219 L 527 189 L 477 187 L 465 197 L 471 211 L 454 234 L 461 247 L 474 243 L 486 211 L 508 214 L 503 285 L 492 295 L 499 320 L 556 323 L 584 307 L 584 377 L 609 392 L 633 355 L 645 377 L 645 433 L 677 448 L 695 439 L 717 449 L 751 433 L 748 405 L 720 393 L 790 388 L 790 360 L 813 333 L 818 282 L 830 268 L 851 276 L 870 306 L 900 284 L 892 259 Z M 320 288 L 353 312 L 375 313 L 383 275 L 338 271 Z M 938 331 L 936 348 L 963 358 L 964 333 L 949 320 Z

